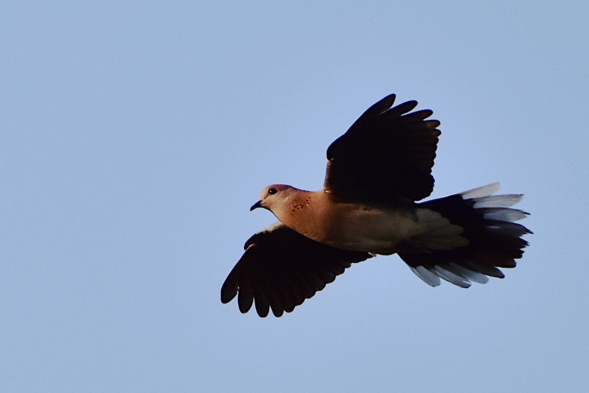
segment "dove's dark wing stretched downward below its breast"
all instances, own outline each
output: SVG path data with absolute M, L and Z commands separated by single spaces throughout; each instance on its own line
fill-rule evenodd
M 281 223 L 257 232 L 244 249 L 221 287 L 221 302 L 237 295 L 245 313 L 255 300 L 259 316 L 268 315 L 270 308 L 275 316 L 293 311 L 352 263 L 371 257 L 315 242 Z

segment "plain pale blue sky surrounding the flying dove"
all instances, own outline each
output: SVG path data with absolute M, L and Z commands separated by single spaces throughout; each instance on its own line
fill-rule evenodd
M 589 2 L 0 7 L 0 391 L 589 391 Z M 442 197 L 502 182 L 507 278 L 397 256 L 282 318 L 219 292 L 262 187 L 322 187 L 389 93 L 442 122 Z

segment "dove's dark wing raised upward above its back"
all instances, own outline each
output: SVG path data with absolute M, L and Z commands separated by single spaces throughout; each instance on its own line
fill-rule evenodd
M 440 131 L 417 101 L 392 107 L 391 94 L 372 105 L 327 148 L 325 189 L 335 200 L 391 206 L 431 194 Z

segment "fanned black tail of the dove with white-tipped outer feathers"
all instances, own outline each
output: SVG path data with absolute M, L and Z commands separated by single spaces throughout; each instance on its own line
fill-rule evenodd
M 528 245 L 521 236 L 532 232 L 515 223 L 529 214 L 511 208 L 523 196 L 492 195 L 498 189 L 499 183 L 492 183 L 419 204 L 461 226 L 468 245 L 450 250 L 416 249 L 409 245 L 399 250 L 401 259 L 431 286 L 444 279 L 468 288 L 471 282 L 486 283 L 487 276 L 504 278 L 498 267 L 515 267 L 515 259 L 521 258 L 522 249 Z

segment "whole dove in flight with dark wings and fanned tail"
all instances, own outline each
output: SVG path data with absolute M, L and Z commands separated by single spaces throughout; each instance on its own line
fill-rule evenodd
M 512 206 L 522 194 L 495 194 L 499 183 L 420 202 L 434 189 L 432 167 L 440 122 L 417 101 L 391 94 L 372 105 L 327 148 L 323 189 L 264 187 L 250 210 L 278 222 L 244 245 L 221 286 L 221 302 L 237 296 L 241 313 L 289 313 L 353 263 L 397 254 L 430 286 L 462 288 L 504 278 L 532 233 Z

